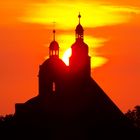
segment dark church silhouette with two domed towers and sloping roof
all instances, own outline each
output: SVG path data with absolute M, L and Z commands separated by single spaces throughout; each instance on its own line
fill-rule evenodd
M 129 127 L 124 114 L 91 77 L 80 14 L 78 18 L 69 66 L 59 58 L 53 30 L 49 58 L 39 67 L 39 94 L 15 105 L 19 126 L 45 130 L 52 139 L 87 140 L 91 136 L 110 136 L 116 130 L 119 134 Z

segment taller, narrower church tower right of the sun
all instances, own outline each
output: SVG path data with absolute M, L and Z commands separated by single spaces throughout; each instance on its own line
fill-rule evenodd
M 88 55 L 88 45 L 84 43 L 84 29 L 80 23 L 80 13 L 78 18 L 79 23 L 75 29 L 75 43 L 71 46 L 72 55 L 69 59 L 69 67 L 75 78 L 84 81 L 90 78 L 90 56 Z

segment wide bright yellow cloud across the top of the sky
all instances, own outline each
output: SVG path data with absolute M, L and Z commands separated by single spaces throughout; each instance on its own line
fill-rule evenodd
M 45 25 L 55 21 L 59 29 L 72 29 L 77 24 L 75 13 L 79 11 L 83 15 L 84 27 L 119 24 L 130 20 L 132 13 L 140 13 L 140 10 L 134 7 L 55 1 L 28 5 L 25 8 L 25 15 L 20 17 L 20 20 Z

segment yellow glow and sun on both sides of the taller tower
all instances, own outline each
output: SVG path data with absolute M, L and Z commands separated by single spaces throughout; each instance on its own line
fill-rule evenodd
M 69 57 L 71 56 L 70 46 L 74 43 L 74 39 L 74 34 L 59 35 L 58 37 L 58 40 L 60 42 L 60 58 L 62 58 L 66 65 L 69 65 Z M 85 37 L 85 42 L 89 46 L 89 55 L 91 56 L 92 68 L 100 67 L 103 64 L 107 63 L 107 58 L 99 57 L 96 53 L 96 48 L 101 47 L 106 41 L 107 39 L 103 38 L 94 38 L 92 36 Z

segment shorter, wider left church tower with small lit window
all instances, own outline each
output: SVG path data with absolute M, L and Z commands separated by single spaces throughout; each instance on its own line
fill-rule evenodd
M 49 58 L 39 68 L 39 96 L 59 93 L 63 89 L 66 65 L 59 59 L 59 44 L 55 41 L 53 30 L 53 41 L 49 46 Z

